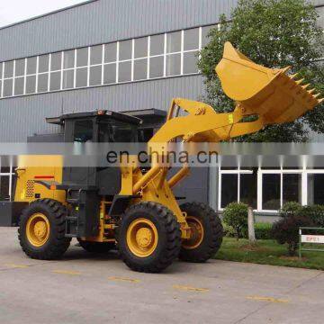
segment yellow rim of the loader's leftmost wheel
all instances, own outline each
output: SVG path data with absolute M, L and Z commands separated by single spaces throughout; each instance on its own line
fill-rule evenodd
M 49 219 L 42 213 L 34 213 L 27 221 L 27 239 L 34 247 L 42 247 L 49 239 Z

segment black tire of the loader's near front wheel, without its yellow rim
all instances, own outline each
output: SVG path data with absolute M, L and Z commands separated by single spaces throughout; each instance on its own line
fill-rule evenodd
M 146 218 L 157 228 L 157 248 L 148 257 L 135 256 L 127 246 L 127 229 L 133 220 Z M 119 252 L 122 261 L 130 269 L 145 273 L 159 273 L 178 257 L 181 248 L 181 230 L 175 215 L 157 202 L 139 202 L 130 206 L 121 216 Z

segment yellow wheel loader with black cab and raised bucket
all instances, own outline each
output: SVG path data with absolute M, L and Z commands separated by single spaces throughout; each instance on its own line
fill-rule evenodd
M 289 68 L 259 66 L 227 42 L 216 72 L 225 94 L 236 102 L 234 111 L 217 113 L 206 103 L 175 98 L 148 147 L 163 156 L 161 147 L 175 139 L 220 142 L 294 121 L 323 99 L 296 75 L 289 76 Z M 245 121 L 251 115 L 257 118 Z M 58 121 L 67 143 L 138 140 L 139 119 L 118 112 L 70 113 Z M 14 219 L 21 211 L 18 237 L 29 257 L 62 257 L 76 238 L 90 252 L 118 247 L 130 269 L 157 273 L 176 258 L 205 262 L 220 248 L 223 229 L 217 213 L 200 202 L 179 205 L 173 193 L 189 174 L 187 165 L 170 177 L 170 166 L 155 159 L 145 170 L 136 164 L 65 167 L 56 159 L 49 157 L 41 167 L 21 162 L 16 169 L 10 212 Z

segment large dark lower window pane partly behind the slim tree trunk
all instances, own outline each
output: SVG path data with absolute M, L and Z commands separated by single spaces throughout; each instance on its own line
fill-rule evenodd
M 257 171 L 239 175 L 239 201 L 257 209 Z

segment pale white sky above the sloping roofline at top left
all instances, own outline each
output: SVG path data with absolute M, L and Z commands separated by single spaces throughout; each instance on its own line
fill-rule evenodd
M 0 27 L 82 2 L 85 0 L 0 0 Z

